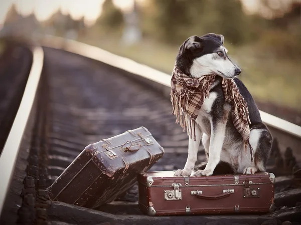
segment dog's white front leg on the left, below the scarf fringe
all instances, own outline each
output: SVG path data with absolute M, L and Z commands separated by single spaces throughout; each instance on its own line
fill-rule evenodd
M 189 123 L 190 124 L 190 121 Z M 189 128 L 190 129 L 190 128 Z M 196 164 L 196 161 L 198 159 L 198 150 L 200 146 L 200 140 L 201 140 L 201 130 L 199 126 L 196 124 L 196 141 L 194 139 L 189 137 L 188 142 L 188 157 L 184 166 L 184 169 L 179 169 L 174 176 L 190 176 L 194 166 Z

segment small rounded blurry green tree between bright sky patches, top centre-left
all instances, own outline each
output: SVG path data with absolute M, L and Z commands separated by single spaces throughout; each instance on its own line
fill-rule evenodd
M 116 31 L 123 26 L 123 14 L 112 2 L 112 0 L 105 0 L 102 5 L 102 13 L 96 20 L 96 26 L 99 26 L 105 32 Z

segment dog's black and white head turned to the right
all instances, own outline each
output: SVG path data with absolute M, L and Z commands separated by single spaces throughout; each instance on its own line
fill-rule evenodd
M 227 56 L 224 37 L 213 33 L 192 36 L 180 47 L 176 65 L 187 75 L 199 78 L 216 74 L 223 78 L 233 78 L 241 70 Z

